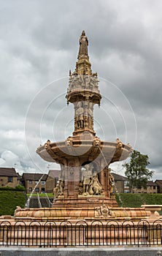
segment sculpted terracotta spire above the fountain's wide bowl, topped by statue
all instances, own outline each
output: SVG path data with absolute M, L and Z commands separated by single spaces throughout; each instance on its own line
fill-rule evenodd
M 97 73 L 92 73 L 88 56 L 88 38 L 85 31 L 80 36 L 80 49 L 74 73 L 69 72 L 67 103 L 74 104 L 74 132 L 78 135 L 88 131 L 95 135 L 93 129 L 93 106 L 100 105 L 99 80 Z

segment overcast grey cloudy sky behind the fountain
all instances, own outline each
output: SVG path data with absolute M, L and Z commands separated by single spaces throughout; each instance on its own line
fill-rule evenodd
M 161 10 L 161 0 L 0 1 L 0 166 L 58 168 L 35 151 L 72 135 L 65 95 L 84 29 L 102 94 L 96 134 L 147 154 L 153 178 L 162 178 Z

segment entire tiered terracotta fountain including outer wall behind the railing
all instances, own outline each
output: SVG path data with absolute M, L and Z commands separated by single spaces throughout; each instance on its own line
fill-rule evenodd
M 76 69 L 69 72 L 66 100 L 74 105 L 72 136 L 61 142 L 47 140 L 36 150 L 45 161 L 61 166 L 53 206 L 17 207 L 14 217 L 1 217 L 0 241 L 23 246 L 161 244 L 161 224 L 154 224 L 161 206 L 117 207 L 109 165 L 126 159 L 132 148 L 118 138 L 100 140 L 93 129 L 93 107 L 100 105 L 101 94 L 85 31 Z

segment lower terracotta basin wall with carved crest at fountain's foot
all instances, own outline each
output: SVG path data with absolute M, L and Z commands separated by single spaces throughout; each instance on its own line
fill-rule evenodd
M 97 207 L 80 207 L 80 208 L 20 208 L 15 213 L 15 221 L 40 221 L 46 222 L 50 220 L 64 221 L 66 219 L 107 219 L 107 220 L 125 220 L 131 219 L 138 222 L 141 219 L 147 219 L 150 211 L 144 208 L 110 208 L 104 204 Z

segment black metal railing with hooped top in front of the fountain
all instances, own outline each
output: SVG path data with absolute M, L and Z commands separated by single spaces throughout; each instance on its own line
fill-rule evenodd
M 0 246 L 161 246 L 162 221 L 8 222 L 0 224 Z

